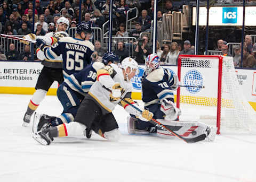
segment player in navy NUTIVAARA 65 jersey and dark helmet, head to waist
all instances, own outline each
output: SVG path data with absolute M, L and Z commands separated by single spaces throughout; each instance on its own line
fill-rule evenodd
M 91 55 L 94 51 L 94 46 L 89 41 L 91 33 L 89 24 L 81 23 L 77 26 L 75 38 L 63 37 L 52 47 L 46 46 L 42 39 L 36 39 L 36 44 L 47 59 L 62 55 L 63 77 L 66 79 L 69 75 L 91 64 Z

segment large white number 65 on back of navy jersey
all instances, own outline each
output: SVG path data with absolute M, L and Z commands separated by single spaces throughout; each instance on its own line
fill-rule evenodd
M 70 57 L 70 55 L 75 57 L 75 60 Z M 75 70 L 75 71 L 80 71 L 83 70 L 84 68 L 84 60 L 80 59 L 80 57 L 84 57 L 84 53 L 80 52 L 75 52 L 73 50 L 68 50 L 67 51 L 67 63 L 66 63 L 66 68 L 67 70 Z M 77 66 L 76 63 L 79 63 L 79 66 Z

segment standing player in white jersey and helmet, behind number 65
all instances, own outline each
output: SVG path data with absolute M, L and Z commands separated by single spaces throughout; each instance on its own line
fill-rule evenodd
M 53 45 L 61 37 L 68 37 L 69 35 L 66 33 L 68 30 L 69 21 L 68 19 L 61 17 L 58 19 L 56 24 L 57 32 L 47 33 L 45 36 L 36 36 L 33 33 L 27 34 L 24 36 L 24 39 L 28 40 L 36 40 L 42 39 L 45 41 L 47 45 Z M 26 43 L 26 41 L 24 42 Z M 38 108 L 41 101 L 46 96 L 47 91 L 54 81 L 57 81 L 59 84 L 63 82 L 63 74 L 62 74 L 62 56 L 58 56 L 55 58 L 47 59 L 45 58 L 42 50 L 37 49 L 37 57 L 42 60 L 42 64 L 44 65 L 41 73 L 38 76 L 36 83 L 36 91 L 33 94 L 33 97 L 30 99 L 27 111 L 23 117 L 22 126 L 28 126 L 30 123 L 31 115 Z

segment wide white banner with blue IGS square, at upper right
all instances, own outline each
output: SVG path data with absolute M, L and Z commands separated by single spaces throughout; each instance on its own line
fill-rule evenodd
M 245 26 L 256 26 L 253 21 L 256 17 L 256 6 L 245 7 Z M 199 25 L 206 25 L 207 9 L 199 8 Z M 193 25 L 196 24 L 196 7 L 193 7 Z M 209 25 L 242 26 L 243 6 L 218 7 L 213 6 L 209 10 Z

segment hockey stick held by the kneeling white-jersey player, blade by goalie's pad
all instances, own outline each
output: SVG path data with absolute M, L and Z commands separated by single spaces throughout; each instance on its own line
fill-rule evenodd
M 102 86 L 104 89 L 108 90 L 109 92 L 111 92 L 110 89 L 106 88 L 104 85 Z M 140 113 L 142 113 L 142 110 L 140 110 L 138 107 L 132 105 L 132 103 L 126 101 L 124 98 L 121 97 L 121 100 L 124 101 L 125 103 L 127 103 L 129 106 L 133 107 L 135 110 L 139 111 Z M 180 136 L 179 134 L 173 132 L 171 129 L 167 128 L 166 126 L 164 126 L 162 123 L 158 122 L 156 119 L 152 118 L 151 120 L 149 120 L 149 122 L 161 129 L 163 129 L 166 132 L 171 133 L 174 136 L 177 136 L 178 138 L 180 138 L 181 140 L 183 140 L 186 143 L 195 143 L 195 142 L 199 142 L 201 140 L 204 140 L 204 138 L 206 137 L 205 134 L 199 135 L 195 138 L 184 138 L 182 136 Z

